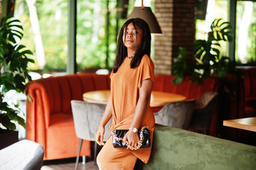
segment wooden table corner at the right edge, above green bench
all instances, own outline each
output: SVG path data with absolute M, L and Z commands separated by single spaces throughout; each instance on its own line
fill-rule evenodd
M 224 120 L 223 125 L 231 128 L 238 128 L 242 130 L 250 130 L 256 132 L 256 118 Z

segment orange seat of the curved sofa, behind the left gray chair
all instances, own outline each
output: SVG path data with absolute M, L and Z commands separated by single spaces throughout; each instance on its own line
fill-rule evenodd
M 47 130 L 46 143 L 48 152 L 45 157 L 48 159 L 69 158 L 76 155 L 79 147 L 79 138 L 75 135 L 74 121 L 72 114 L 54 113 L 50 115 L 50 126 Z M 84 140 L 81 155 L 90 155 L 90 142 Z

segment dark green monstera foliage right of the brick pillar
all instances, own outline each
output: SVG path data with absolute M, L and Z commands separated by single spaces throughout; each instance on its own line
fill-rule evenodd
M 189 76 L 194 82 L 201 82 L 207 78 L 216 78 L 221 82 L 221 86 L 233 98 L 235 90 L 227 77 L 236 75 L 240 77 L 241 73 L 235 68 L 235 62 L 226 56 L 221 56 L 221 41 L 232 41 L 233 29 L 229 22 L 223 22 L 222 19 L 216 19 L 211 23 L 211 32 L 208 33 L 206 40 L 195 40 L 194 42 L 194 60 L 187 64 L 187 52 L 183 47 L 179 48 L 179 57 L 174 59 L 172 65 L 172 74 L 176 76 L 173 79 L 174 84 L 180 84 L 184 75 Z

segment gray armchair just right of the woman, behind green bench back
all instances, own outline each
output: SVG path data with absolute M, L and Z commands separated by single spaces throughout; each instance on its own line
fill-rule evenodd
M 155 115 L 155 123 L 187 130 L 195 100 L 167 103 Z

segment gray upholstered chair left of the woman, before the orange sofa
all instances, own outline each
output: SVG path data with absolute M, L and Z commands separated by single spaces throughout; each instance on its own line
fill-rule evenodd
M 80 156 L 80 151 L 82 147 L 83 140 L 95 141 L 96 132 L 98 130 L 101 117 L 105 111 L 106 104 L 101 103 L 88 103 L 85 101 L 71 101 L 72 113 L 74 118 L 74 129 L 76 131 L 77 137 L 80 138 L 79 149 L 77 153 L 77 161 L 75 169 L 78 167 L 78 161 Z M 104 140 L 107 140 L 111 135 L 109 130 L 109 125 L 111 120 L 105 127 Z M 96 148 L 97 144 L 95 142 L 94 146 L 94 164 L 96 164 Z

